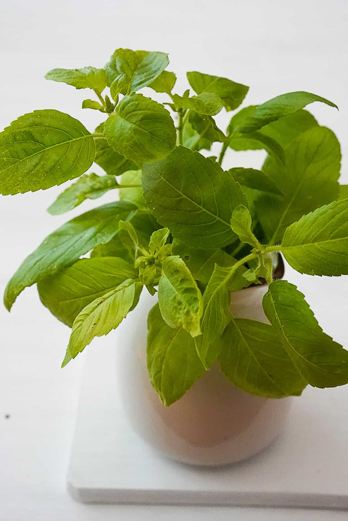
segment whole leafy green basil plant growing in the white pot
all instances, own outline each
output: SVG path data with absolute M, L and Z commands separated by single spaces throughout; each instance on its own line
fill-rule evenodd
M 119 194 L 48 235 L 9 281 L 5 306 L 38 284 L 42 303 L 72 328 L 65 366 L 117 328 L 145 286 L 157 295 L 148 374 L 165 405 L 216 362 L 234 386 L 271 398 L 348 383 L 348 352 L 293 284 L 273 280 L 279 252 L 302 274 L 348 275 L 340 145 L 304 110 L 335 105 L 291 92 L 239 109 L 247 86 L 191 71 L 190 89 L 176 93 L 168 63 L 165 53 L 117 49 L 101 69 L 53 69 L 48 80 L 89 89 L 82 108 L 100 111 L 100 125 L 34 110 L 0 134 L 3 195 L 76 179 L 48 208 L 56 215 Z M 214 119 L 221 110 L 234 111 L 226 131 Z M 205 157 L 215 142 L 219 157 Z M 223 170 L 229 148 L 267 158 L 259 170 Z M 93 162 L 103 175 L 85 173 Z M 234 317 L 231 292 L 260 283 L 269 324 Z

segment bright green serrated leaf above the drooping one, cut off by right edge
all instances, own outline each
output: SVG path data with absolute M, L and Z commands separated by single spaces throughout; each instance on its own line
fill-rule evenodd
M 287 228 L 279 249 L 300 273 L 348 275 L 348 201 L 304 215 Z

